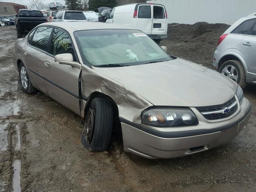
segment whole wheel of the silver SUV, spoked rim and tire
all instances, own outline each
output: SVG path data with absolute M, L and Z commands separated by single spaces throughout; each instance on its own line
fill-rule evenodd
M 238 60 L 226 61 L 220 66 L 219 72 L 237 82 L 242 88 L 246 86 L 246 76 L 242 63 Z

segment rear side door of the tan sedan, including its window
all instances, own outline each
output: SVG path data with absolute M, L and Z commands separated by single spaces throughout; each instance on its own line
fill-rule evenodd
M 38 27 L 35 32 L 29 35 L 29 43 L 24 51 L 24 62 L 32 85 L 45 94 L 46 82 L 44 80 L 45 65 L 44 60 L 47 53 L 48 40 L 52 32 L 52 27 Z M 34 33 L 34 36 L 32 37 Z M 32 39 L 30 39 L 32 38 Z

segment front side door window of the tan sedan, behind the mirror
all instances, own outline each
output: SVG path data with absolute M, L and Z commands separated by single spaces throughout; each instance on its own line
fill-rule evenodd
M 64 30 L 55 28 L 52 35 L 50 54 L 55 56 L 62 53 L 71 53 L 75 59 L 74 49 L 70 37 Z

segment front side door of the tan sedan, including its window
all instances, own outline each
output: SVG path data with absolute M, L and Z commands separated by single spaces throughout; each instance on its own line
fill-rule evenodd
M 80 115 L 78 78 L 80 70 L 54 62 L 57 54 L 71 53 L 77 61 L 70 36 L 62 29 L 54 28 L 50 52 L 46 55 L 46 88 L 51 98 Z

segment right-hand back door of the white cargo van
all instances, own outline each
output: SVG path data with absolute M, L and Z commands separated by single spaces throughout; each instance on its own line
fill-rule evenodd
M 152 5 L 152 34 L 167 34 L 167 19 L 164 6 Z

